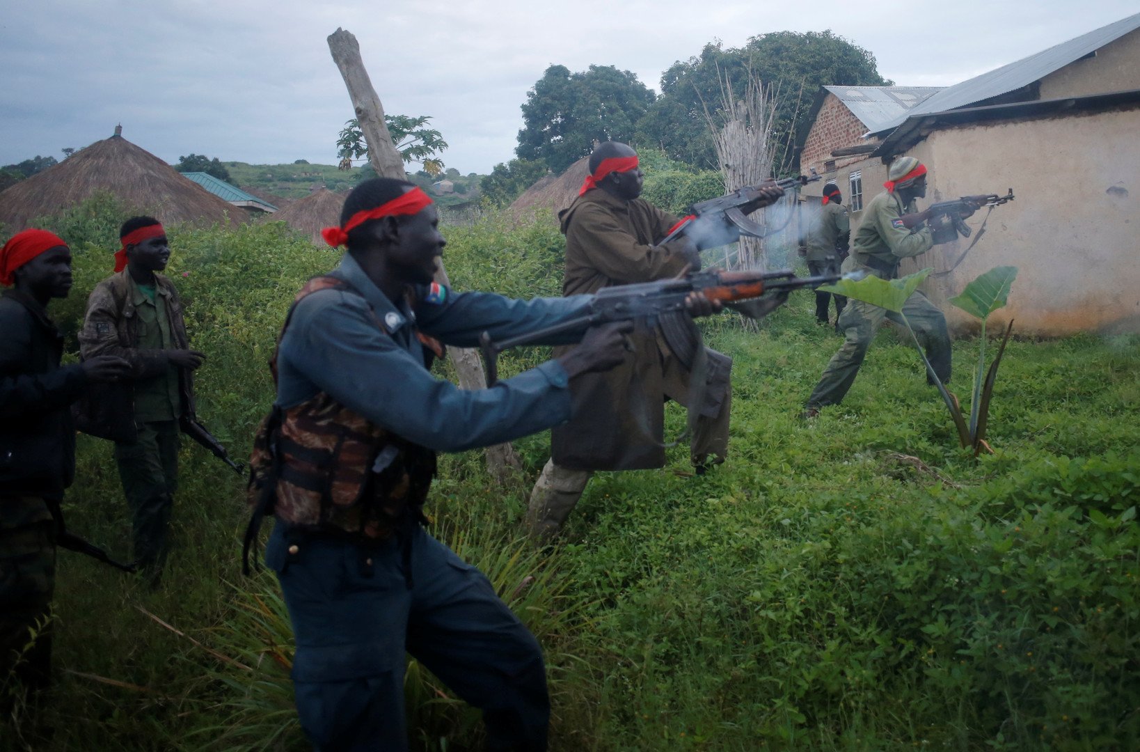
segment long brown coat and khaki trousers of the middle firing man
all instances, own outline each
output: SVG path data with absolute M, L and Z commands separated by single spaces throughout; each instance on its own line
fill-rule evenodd
M 567 236 L 563 294 L 676 276 L 690 264 L 686 241 L 654 245 L 678 218 L 643 199 L 587 191 L 559 215 Z M 656 330 L 630 334 L 634 353 L 605 373 L 575 380 L 575 418 L 552 432 L 552 458 L 530 496 L 532 534 L 555 532 L 578 503 L 594 470 L 665 464 L 662 395 L 687 406 L 690 372 Z M 563 350 L 564 351 L 564 350 Z M 708 380 L 690 454 L 700 467 L 728 450 L 732 361 L 708 350 Z

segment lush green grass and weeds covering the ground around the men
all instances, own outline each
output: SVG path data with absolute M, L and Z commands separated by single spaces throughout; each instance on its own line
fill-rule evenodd
M 46 225 L 75 251 L 76 297 L 54 304 L 68 332 L 125 211 L 104 200 Z M 199 411 L 241 456 L 288 301 L 335 257 L 279 224 L 169 229 L 210 356 Z M 458 288 L 557 291 L 549 217 L 446 232 Z M 880 333 L 844 405 L 798 420 L 836 343 L 812 305 L 793 296 L 758 331 L 707 322 L 735 359 L 728 462 L 691 477 L 677 447 L 662 470 L 598 474 L 557 548 L 518 540 L 526 480 L 495 485 L 477 452 L 443 458 L 433 532 L 543 641 L 554 750 L 1135 749 L 1140 340 L 1011 340 L 995 454 L 975 461 L 897 332 Z M 955 370 L 972 370 L 976 346 L 955 343 Z M 684 420 L 670 406 L 670 436 Z M 547 439 L 516 446 L 532 479 Z M 42 728 L 22 715 L 0 749 L 21 735 L 36 750 L 308 749 L 276 584 L 239 574 L 242 484 L 188 443 L 182 468 L 160 590 L 60 552 L 57 682 Z M 72 527 L 124 556 L 107 443 L 81 437 L 79 477 Z M 407 687 L 420 749 L 478 749 L 470 710 L 414 664 Z

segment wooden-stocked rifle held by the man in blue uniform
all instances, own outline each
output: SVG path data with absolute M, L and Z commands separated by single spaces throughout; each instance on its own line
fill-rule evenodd
M 487 363 L 487 383 L 494 385 L 498 379 L 498 355 L 504 350 L 549 341 L 563 333 L 586 331 L 592 326 L 618 321 L 642 321 L 648 325 L 660 326 L 669 348 L 681 363 L 689 367 L 698 345 L 691 318 L 685 312 L 685 299 L 691 293 L 703 292 L 709 300 L 719 300 L 731 306 L 759 298 L 768 292 L 790 292 L 799 288 L 831 284 L 840 276 L 823 274 L 797 277 L 791 269 L 781 272 L 707 269 L 673 280 L 603 288 L 594 294 L 589 310 L 577 318 L 498 342 L 491 341 L 490 334 L 483 332 L 479 338 L 479 345 Z M 747 315 L 747 312 L 742 313 Z

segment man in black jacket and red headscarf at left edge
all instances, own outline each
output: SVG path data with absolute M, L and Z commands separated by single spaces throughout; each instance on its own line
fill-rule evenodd
M 57 519 L 75 472 L 68 405 L 88 383 L 130 371 L 113 356 L 60 365 L 63 337 L 47 306 L 71 291 L 71 261 L 67 243 L 43 229 L 0 249 L 9 288 L 0 297 L 0 688 L 13 678 L 33 689 L 48 682 Z M 0 714 L 14 697 L 0 696 Z

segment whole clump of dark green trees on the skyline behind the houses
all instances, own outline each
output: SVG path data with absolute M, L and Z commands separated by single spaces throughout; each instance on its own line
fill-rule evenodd
M 780 170 L 793 167 L 793 147 L 812 126 L 807 115 L 821 86 L 890 84 L 879 75 L 874 55 L 830 30 L 758 34 L 740 48 L 710 42 L 661 74 L 660 96 L 612 65 L 579 72 L 551 65 L 522 104 L 515 156 L 520 167 L 537 161 L 559 173 L 589 154 L 594 140 L 618 140 L 716 169 L 706 111 L 720 108 L 725 80 L 732 96 L 741 97 L 750 75 L 775 100 L 772 136 Z

